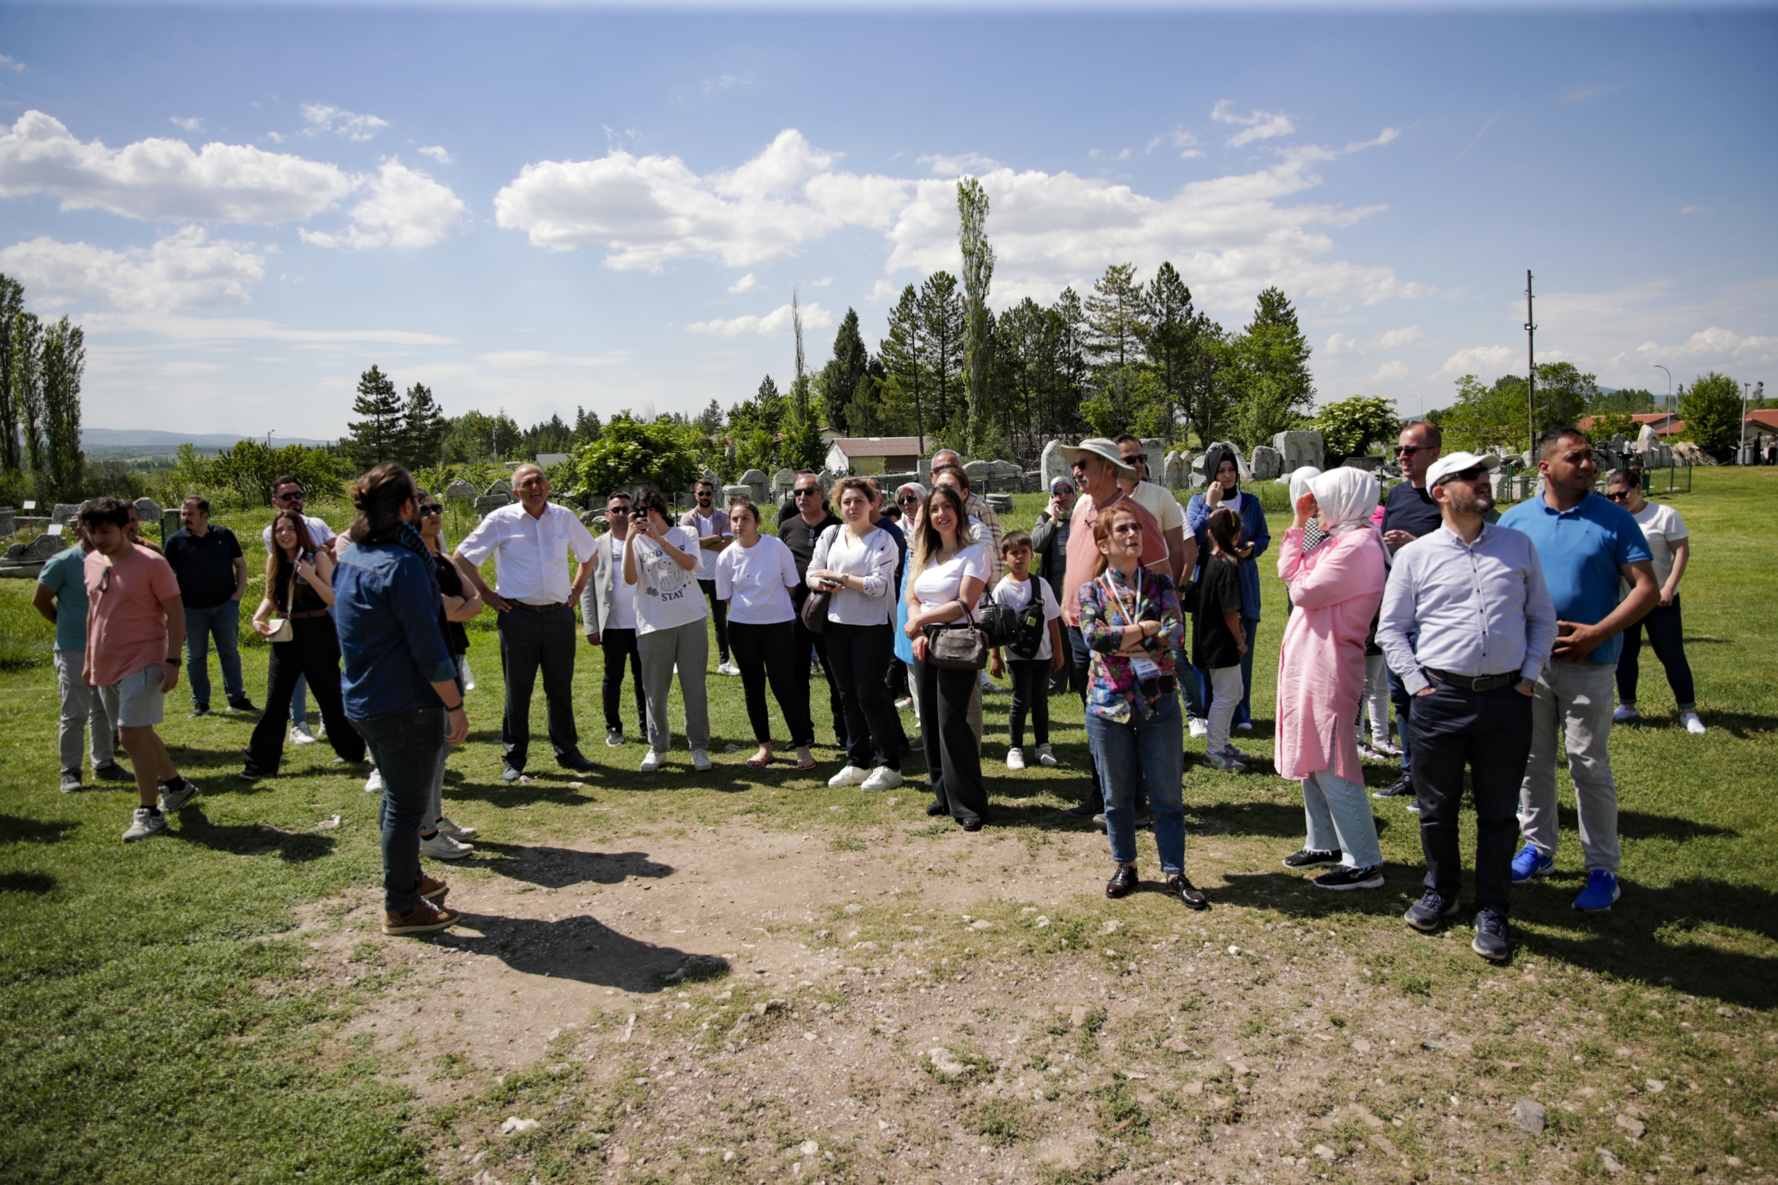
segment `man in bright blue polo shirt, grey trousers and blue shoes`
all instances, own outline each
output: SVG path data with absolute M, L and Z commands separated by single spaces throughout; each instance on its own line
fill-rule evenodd
M 1598 465 L 1579 428 L 1550 428 L 1538 446 L 1543 492 L 1501 526 L 1531 537 L 1556 606 L 1556 650 L 1531 704 L 1531 760 L 1518 789 L 1513 881 L 1556 867 L 1556 744 L 1561 730 L 1581 815 L 1586 888 L 1575 910 L 1609 910 L 1618 899 L 1618 787 L 1611 778 L 1613 673 L 1618 638 L 1661 599 L 1643 529 L 1623 506 L 1593 494 Z M 1618 600 L 1618 583 L 1630 592 Z

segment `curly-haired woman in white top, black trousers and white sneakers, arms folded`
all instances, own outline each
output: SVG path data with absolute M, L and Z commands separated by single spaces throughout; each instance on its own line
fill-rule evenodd
M 827 783 L 893 791 L 901 785 L 903 737 L 887 679 L 901 551 L 889 531 L 875 526 L 877 490 L 869 481 L 843 478 L 834 492 L 841 524 L 821 531 L 809 560 L 809 588 L 830 593 L 821 632 L 846 712 L 846 766 Z

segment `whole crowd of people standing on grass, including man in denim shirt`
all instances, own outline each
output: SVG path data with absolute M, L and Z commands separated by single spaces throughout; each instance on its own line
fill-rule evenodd
M 366 791 L 382 796 L 386 933 L 453 924 L 448 887 L 423 872 L 421 856 L 473 851 L 475 830 L 452 821 L 443 801 L 446 755 L 468 736 L 464 622 L 496 613 L 501 780 L 526 776 L 539 673 L 555 762 L 585 773 L 596 766 L 573 702 L 578 602 L 581 634 L 603 652 L 606 746 L 629 743 L 628 670 L 642 773 L 660 771 L 672 748 L 676 680 L 692 767 L 711 769 L 711 634 L 717 673 L 741 680 L 757 746 L 747 767 L 779 760 L 768 689 L 795 769 L 818 767 L 811 684 L 821 679 L 845 753 L 829 785 L 903 785 L 917 744 L 926 812 L 965 831 L 990 823 L 981 693 L 997 684 L 989 677 L 1012 688 L 1012 771 L 1028 767 L 1028 723 L 1031 760 L 1056 764 L 1049 696 L 1076 695 L 1088 792 L 1069 814 L 1108 833 L 1106 895 L 1136 888 L 1136 831 L 1152 826 L 1166 892 L 1205 910 L 1209 897 L 1186 876 L 1186 744 L 1204 739 L 1198 760 L 1211 769 L 1257 764 L 1232 737 L 1253 727 L 1257 563 L 1273 542 L 1266 512 L 1241 489 L 1241 460 L 1227 446 L 1209 449 L 1205 489 L 1186 506 L 1149 481 L 1136 437 L 1086 439 L 1063 455 L 1072 478 L 1051 483 L 1029 533 L 1001 529 L 949 451 L 932 458 L 928 483 L 896 490 L 853 476 L 830 490 L 802 473 L 773 535 L 757 505 L 736 497 L 718 508 L 715 485 L 701 481 L 677 517 L 656 489 L 610 492 L 606 529 L 594 537 L 549 501 L 548 478 L 528 464 L 514 473 L 516 501 L 485 513 L 452 551 L 441 503 L 396 464 L 352 483 L 356 517 L 341 537 L 304 513 L 300 481 L 279 478 L 263 535 L 265 593 L 251 618 L 270 643 L 267 707 L 238 776 L 277 776 L 286 737 L 318 739 L 308 728 L 313 691 L 338 762 L 368 762 Z M 1399 780 L 1374 798 L 1412 798 L 1426 878 L 1406 922 L 1435 931 L 1460 908 L 1467 775 L 1478 819 L 1472 945 L 1502 959 L 1511 885 L 1554 867 L 1558 752 L 1574 778 L 1586 865 L 1574 904 L 1609 910 L 1620 897 L 1609 736 L 1638 716 L 1645 627 L 1682 725 L 1703 732 L 1678 616 L 1689 540 L 1670 506 L 1643 499 L 1634 474 L 1613 473 L 1607 494 L 1595 494 L 1593 449 L 1574 428 L 1543 435 L 1540 490 L 1504 515 L 1492 497 L 1495 457 L 1446 455 L 1431 423 L 1410 425 L 1396 455 L 1405 480 L 1387 499 L 1357 467 L 1300 469 L 1291 480 L 1293 521 L 1275 560 L 1287 608 L 1273 767 L 1301 783 L 1305 839 L 1284 863 L 1316 871 L 1312 883 L 1326 890 L 1382 887 L 1362 762 L 1399 757 Z M 94 778 L 137 783 L 126 842 L 164 831 L 197 794 L 156 734 L 181 654 L 192 716 L 212 711 L 212 645 L 229 711 L 260 711 L 236 647 L 240 542 L 210 524 L 203 497 L 180 513 L 181 529 L 156 549 L 128 503 L 82 505 L 80 545 L 44 565 L 36 595 L 57 631 L 62 789 L 82 787 L 85 741 Z M 117 764 L 119 746 L 133 771 Z

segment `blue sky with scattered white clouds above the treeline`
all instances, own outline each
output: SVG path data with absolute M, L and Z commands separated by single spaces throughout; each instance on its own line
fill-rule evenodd
M 331 437 L 699 410 L 957 266 L 1278 284 L 1323 400 L 1540 361 L 1778 362 L 1778 16 L 0 7 L 0 272 L 87 327 L 85 423 Z M 1764 147 L 1762 147 L 1764 146 Z

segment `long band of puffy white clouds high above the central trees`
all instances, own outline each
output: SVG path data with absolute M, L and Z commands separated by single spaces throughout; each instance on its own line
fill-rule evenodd
M 989 171 L 981 185 L 992 204 L 994 300 L 1047 300 L 1131 259 L 1141 268 L 1172 259 L 1200 300 L 1243 311 L 1266 284 L 1335 304 L 1424 295 L 1431 290 L 1389 266 L 1325 258 L 1334 249 L 1330 227 L 1383 206 L 1285 203 L 1321 185 L 1317 163 L 1394 139 L 1390 128 L 1344 147 L 1280 149 L 1264 169 L 1161 197 L 1072 172 Z M 603 245 L 613 268 L 658 270 L 674 259 L 756 266 L 845 226 L 885 236 L 891 274 L 958 266 L 955 181 L 839 172 L 830 153 L 795 130 L 740 169 L 704 176 L 676 156 L 621 149 L 592 162 L 530 163 L 500 190 L 494 210 L 501 227 L 526 231 L 537 247 Z

